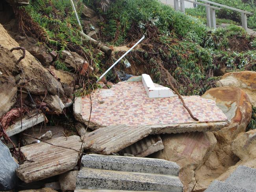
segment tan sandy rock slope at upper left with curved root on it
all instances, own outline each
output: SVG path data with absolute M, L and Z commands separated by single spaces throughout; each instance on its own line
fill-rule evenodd
M 0 24 L 0 81 L 16 83 L 17 87 L 22 87 L 24 91 L 29 90 L 31 94 L 43 94 L 48 91 L 50 94 L 64 94 L 63 88 L 59 81 L 54 78 L 41 63 L 39 63 L 30 52 L 26 51 L 26 56 L 19 65 L 16 61 L 22 56 L 20 50 L 10 50 L 14 47 L 19 47 L 19 44 L 7 33 L 4 27 Z M 22 71 L 21 72 L 21 68 Z M 20 79 L 14 79 L 13 76 L 19 74 Z M 26 86 L 24 86 L 26 79 Z M 15 82 L 16 80 L 16 82 Z

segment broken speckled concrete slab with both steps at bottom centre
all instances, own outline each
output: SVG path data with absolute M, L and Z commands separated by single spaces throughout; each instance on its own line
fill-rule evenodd
M 82 161 L 83 167 L 76 177 L 76 189 L 183 190 L 177 176 L 179 167 L 173 162 L 113 155 L 85 155 Z

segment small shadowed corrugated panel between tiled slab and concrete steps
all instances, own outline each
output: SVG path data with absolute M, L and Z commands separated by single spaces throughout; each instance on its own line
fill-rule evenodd
M 162 150 L 163 148 L 163 142 L 159 135 L 149 135 L 148 137 L 145 137 L 131 146 L 119 151 L 119 154 L 124 155 L 124 153 L 128 153 L 135 157 L 146 157 L 152 153 Z

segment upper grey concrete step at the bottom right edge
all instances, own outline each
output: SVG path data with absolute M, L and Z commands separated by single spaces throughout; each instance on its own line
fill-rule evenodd
M 256 169 L 239 166 L 225 182 L 236 185 L 237 187 L 256 191 Z

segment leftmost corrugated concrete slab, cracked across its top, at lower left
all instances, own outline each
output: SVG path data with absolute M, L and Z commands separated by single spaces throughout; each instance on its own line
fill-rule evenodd
M 80 150 L 81 140 L 79 136 L 58 137 L 47 142 Z M 72 170 L 79 159 L 77 151 L 52 146 L 45 142 L 36 143 L 20 148 L 24 158 L 29 160 L 16 170 L 17 176 L 25 183 L 38 181 L 54 175 L 59 175 Z

